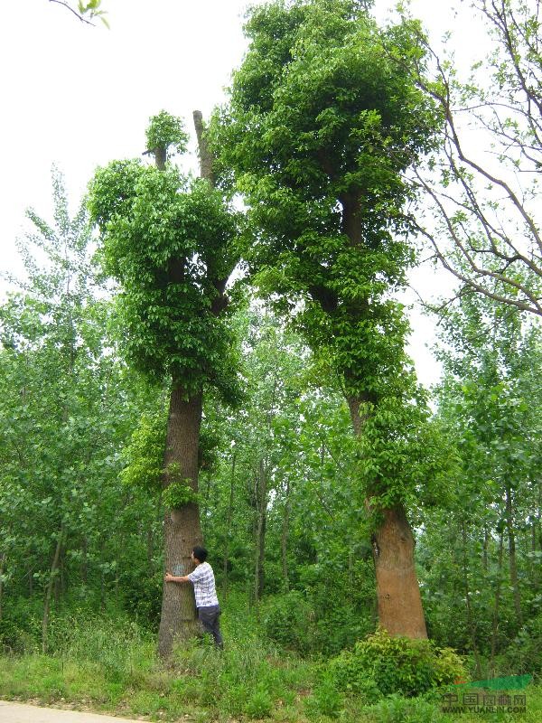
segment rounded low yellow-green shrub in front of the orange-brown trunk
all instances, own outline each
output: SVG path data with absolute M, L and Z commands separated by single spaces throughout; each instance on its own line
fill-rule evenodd
M 411 697 L 426 690 L 466 679 L 461 658 L 450 648 L 427 640 L 392 637 L 378 629 L 329 663 L 338 690 L 367 693 L 373 686 L 382 695 Z

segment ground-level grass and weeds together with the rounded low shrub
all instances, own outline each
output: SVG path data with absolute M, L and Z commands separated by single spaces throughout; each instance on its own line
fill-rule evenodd
M 444 693 L 457 690 L 447 684 L 469 675 L 469 662 L 453 651 L 381 630 L 332 658 L 304 655 L 287 639 L 285 625 L 283 643 L 266 634 L 265 606 L 257 614 L 234 594 L 223 615 L 225 651 L 194 641 L 178 647 L 167 664 L 156 655 L 154 631 L 118 610 L 57 612 L 48 655 L 40 653 L 38 620 L 30 615 L 21 625 L 16 651 L 4 644 L 2 698 L 201 723 L 447 723 L 458 719 L 443 710 Z M 295 638 L 300 622 L 291 622 Z M 531 686 L 526 694 L 526 713 L 484 719 L 538 723 L 542 691 Z

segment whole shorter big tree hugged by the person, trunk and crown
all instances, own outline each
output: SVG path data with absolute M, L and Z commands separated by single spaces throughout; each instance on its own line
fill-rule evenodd
M 201 136 L 201 114 L 194 114 Z M 90 185 L 105 267 L 121 286 L 126 358 L 150 377 L 169 380 L 164 452 L 165 567 L 192 569 L 201 544 L 197 503 L 202 398 L 206 388 L 237 394 L 236 343 L 226 318 L 226 285 L 236 266 L 236 214 L 208 178 L 182 176 L 169 162 L 187 136 L 164 111 L 151 120 L 147 147 L 155 164 L 113 162 Z M 201 146 L 202 169 L 207 167 Z M 207 163 L 207 165 L 206 165 Z M 159 650 L 196 633 L 192 590 L 164 586 Z

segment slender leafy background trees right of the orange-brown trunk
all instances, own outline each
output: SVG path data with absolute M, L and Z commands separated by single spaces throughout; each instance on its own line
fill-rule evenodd
M 468 290 L 441 330 L 438 418 L 456 462 L 418 559 L 431 636 L 472 652 L 480 678 L 509 670 L 537 613 L 542 340 L 525 315 Z

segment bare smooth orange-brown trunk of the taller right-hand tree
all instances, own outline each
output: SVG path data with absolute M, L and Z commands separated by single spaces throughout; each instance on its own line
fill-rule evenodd
M 348 399 L 354 433 L 360 436 L 366 418 L 364 399 Z M 370 499 L 367 501 L 370 509 Z M 426 638 L 424 609 L 414 562 L 415 540 L 403 505 L 382 510 L 372 540 L 377 578 L 378 622 L 391 635 Z

